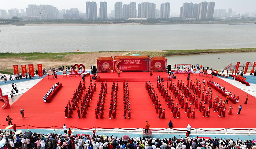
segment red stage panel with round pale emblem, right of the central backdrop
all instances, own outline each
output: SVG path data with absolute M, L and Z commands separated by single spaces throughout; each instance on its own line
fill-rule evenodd
M 150 59 L 150 70 L 153 69 L 153 71 L 166 71 L 166 62 L 167 59 L 163 57 L 152 57 Z

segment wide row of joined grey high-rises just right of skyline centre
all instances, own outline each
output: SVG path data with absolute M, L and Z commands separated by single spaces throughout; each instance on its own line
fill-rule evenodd
M 138 18 L 156 18 L 156 4 L 149 2 L 138 4 Z

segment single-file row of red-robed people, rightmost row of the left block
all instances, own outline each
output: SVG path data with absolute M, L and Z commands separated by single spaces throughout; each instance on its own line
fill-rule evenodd
M 123 82 L 123 103 L 124 103 L 124 118 L 126 118 L 126 113 L 128 118 L 131 118 L 131 108 L 130 108 L 130 101 L 129 101 L 129 87 L 128 81 Z

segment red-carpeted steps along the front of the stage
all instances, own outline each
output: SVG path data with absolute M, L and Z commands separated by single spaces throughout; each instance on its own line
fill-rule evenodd
M 168 78 L 167 77 L 163 77 L 164 81 L 167 81 Z M 113 82 L 113 81 L 118 81 L 118 82 L 122 82 L 122 81 L 130 81 L 130 82 L 141 82 L 141 81 L 156 81 L 157 78 L 154 77 L 150 77 L 150 78 L 100 78 L 100 81 L 107 81 L 107 82 Z

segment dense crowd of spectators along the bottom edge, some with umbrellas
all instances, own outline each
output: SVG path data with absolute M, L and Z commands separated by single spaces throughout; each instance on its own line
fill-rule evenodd
M 5 147 L 22 149 L 255 149 L 256 140 L 221 138 L 118 138 L 107 135 L 79 135 L 33 133 L 15 135 L 13 131 L 0 130 L 0 141 Z M 2 141 L 1 141 L 2 142 Z

